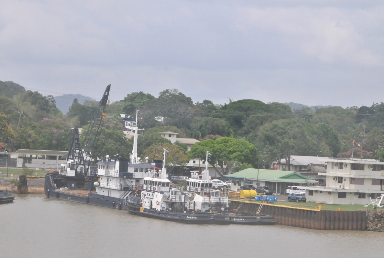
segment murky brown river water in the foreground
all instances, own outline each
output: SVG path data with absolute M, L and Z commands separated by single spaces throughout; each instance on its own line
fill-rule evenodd
M 16 196 L 0 205 L 0 258 L 384 257 L 384 232 L 188 225 Z

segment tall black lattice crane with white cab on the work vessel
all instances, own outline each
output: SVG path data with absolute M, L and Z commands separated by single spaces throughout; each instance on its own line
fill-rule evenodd
M 99 105 L 93 114 L 91 123 L 84 137 L 84 147 L 81 147 L 79 128 L 73 128 L 73 139 L 71 149 L 67 156 L 67 166 L 74 166 L 74 176 L 77 178 L 86 177 L 89 173 L 89 166 L 91 165 L 92 153 L 97 146 L 101 129 L 103 128 L 106 113 L 106 105 L 109 103 L 109 90 L 111 84 L 107 86 L 101 98 Z M 68 162 L 70 161 L 70 162 Z M 70 164 L 71 163 L 71 164 Z M 67 168 L 69 169 L 69 168 Z

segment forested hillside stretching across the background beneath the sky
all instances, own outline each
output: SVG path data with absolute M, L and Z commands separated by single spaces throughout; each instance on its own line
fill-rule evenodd
M 3 114 L 0 142 L 3 148 L 13 150 L 58 150 L 59 144 L 60 150 L 68 150 L 70 128 L 88 125 L 97 105 L 94 100 L 80 104 L 75 99 L 68 113 L 63 114 L 52 96 L 25 90 L 13 82 L 0 82 L 0 113 Z M 215 106 L 211 100 L 194 104 L 190 97 L 170 89 L 158 96 L 132 92 L 108 105 L 102 144 L 95 153 L 97 157 L 120 153 L 121 158 L 128 159 L 132 141 L 126 140 L 122 133 L 120 114 L 134 119 L 137 109 L 139 127 L 146 130 L 138 139 L 142 158 L 153 153 L 158 155 L 156 148 L 158 151 L 161 145 L 169 144 L 158 134 L 161 131 L 174 131 L 184 138 L 211 139 L 212 146 L 222 137 L 249 141 L 255 146 L 252 154 L 255 159 L 259 155 L 260 160 L 267 163 L 289 155 L 350 157 L 353 139 L 358 143 L 364 140 L 362 154 L 355 147 L 355 158 L 362 155 L 378 159 L 379 146 L 384 143 L 383 103 L 371 107 L 315 108 L 314 111 L 308 107 L 293 112 L 285 104 L 265 104 L 251 99 L 230 100 L 220 106 Z M 197 154 L 188 153 L 182 144 L 175 148 L 174 153 L 179 151 L 185 155 L 180 159 L 196 158 L 192 156 Z M 223 160 L 230 159 L 228 155 Z M 254 165 L 252 158 L 237 159 L 242 160 L 239 166 Z

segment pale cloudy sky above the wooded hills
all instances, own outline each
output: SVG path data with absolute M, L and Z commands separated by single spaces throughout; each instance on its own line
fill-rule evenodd
M 110 99 L 384 102 L 384 1 L 0 0 L 0 81 Z

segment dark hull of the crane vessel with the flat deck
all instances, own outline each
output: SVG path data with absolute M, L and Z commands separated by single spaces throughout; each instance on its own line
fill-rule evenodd
M 45 196 L 51 199 L 68 200 L 71 202 L 79 202 L 83 204 L 96 205 L 118 210 L 128 210 L 127 200 L 116 197 L 103 196 L 100 194 L 88 193 L 88 196 L 80 194 L 71 194 L 68 192 L 55 191 L 51 184 L 49 174 L 45 175 Z

